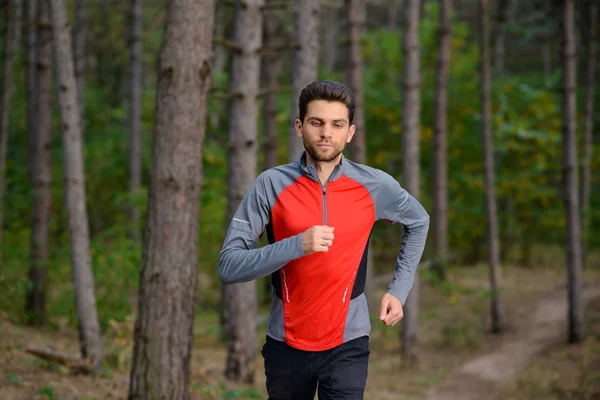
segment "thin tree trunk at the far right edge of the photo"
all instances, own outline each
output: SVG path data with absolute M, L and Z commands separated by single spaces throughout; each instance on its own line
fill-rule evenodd
M 587 243 L 590 237 L 590 191 L 592 186 L 592 148 L 594 131 L 594 88 L 596 86 L 596 34 L 598 30 L 598 3 L 590 3 L 588 31 L 588 59 L 585 92 L 585 115 L 583 119 L 583 174 L 581 205 L 583 209 L 582 264 L 586 264 Z

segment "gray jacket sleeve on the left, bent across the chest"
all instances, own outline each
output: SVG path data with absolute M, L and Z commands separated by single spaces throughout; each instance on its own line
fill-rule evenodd
M 256 179 L 231 220 L 219 256 L 219 279 L 223 284 L 267 276 L 304 256 L 302 234 L 257 248 L 271 213 L 268 181 L 265 173 Z

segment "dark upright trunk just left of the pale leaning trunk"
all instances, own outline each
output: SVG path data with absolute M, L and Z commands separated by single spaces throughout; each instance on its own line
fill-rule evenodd
M 30 0 L 29 4 L 35 0 Z M 52 203 L 52 28 L 48 1 L 37 1 L 37 23 L 28 24 L 35 30 L 36 54 L 30 54 L 36 72 L 31 72 L 34 82 L 29 84 L 30 112 L 35 118 L 29 127 L 31 180 L 33 183 L 31 218 L 31 280 L 27 309 L 30 322 L 41 325 L 46 316 L 46 276 L 48 267 L 50 215 Z M 31 9 L 28 10 L 31 13 Z M 28 15 L 30 20 L 30 15 Z M 31 33 L 28 33 L 28 37 Z M 29 40 L 32 40 L 29 38 Z M 37 57 L 36 57 L 37 55 Z M 31 120 L 31 117 L 28 118 Z

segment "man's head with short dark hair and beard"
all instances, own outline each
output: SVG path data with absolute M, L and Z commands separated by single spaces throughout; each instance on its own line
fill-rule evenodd
M 336 160 L 354 136 L 354 94 L 342 83 L 315 81 L 300 94 L 296 134 L 313 161 Z

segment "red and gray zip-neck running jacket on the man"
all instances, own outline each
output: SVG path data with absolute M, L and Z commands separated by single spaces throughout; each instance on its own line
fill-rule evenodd
M 404 225 L 388 292 L 405 303 L 425 247 L 429 215 L 389 174 L 342 158 L 322 185 L 299 161 L 256 179 L 233 217 L 219 257 L 224 284 L 271 275 L 268 335 L 309 351 L 370 333 L 364 294 L 367 248 L 378 220 Z M 304 255 L 302 233 L 335 228 L 328 252 Z M 258 248 L 267 233 L 269 244 Z

